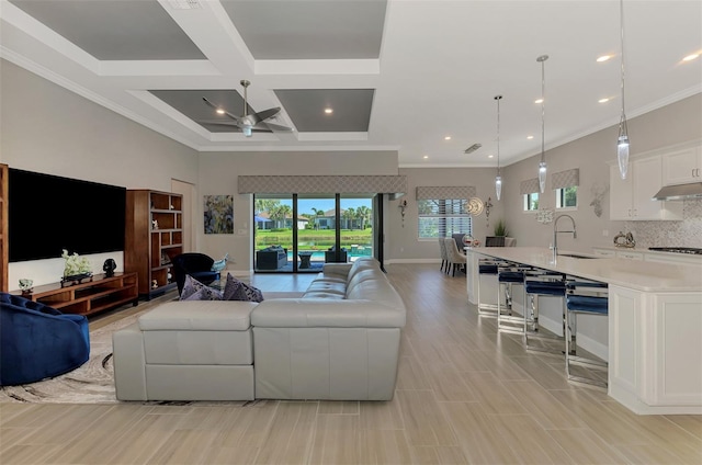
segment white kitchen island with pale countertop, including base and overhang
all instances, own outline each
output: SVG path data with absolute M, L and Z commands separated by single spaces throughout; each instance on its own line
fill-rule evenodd
M 609 395 L 639 415 L 702 413 L 702 266 L 566 251 L 554 260 L 552 250 L 536 247 L 466 252 L 474 304 L 485 257 L 607 283 Z

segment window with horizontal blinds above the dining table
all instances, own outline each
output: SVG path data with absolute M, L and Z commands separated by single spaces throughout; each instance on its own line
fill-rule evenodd
M 472 235 L 473 222 L 465 209 L 465 199 L 424 199 L 417 201 L 419 239 Z

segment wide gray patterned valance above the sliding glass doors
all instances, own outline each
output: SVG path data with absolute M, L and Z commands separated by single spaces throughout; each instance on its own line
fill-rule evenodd
M 240 175 L 239 194 L 388 194 L 407 193 L 405 175 Z

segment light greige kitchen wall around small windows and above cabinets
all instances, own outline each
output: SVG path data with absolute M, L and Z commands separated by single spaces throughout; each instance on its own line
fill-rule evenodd
M 546 123 L 547 124 L 547 123 Z M 547 128 L 547 125 L 546 125 Z M 660 147 L 691 141 L 702 138 L 702 94 L 697 94 L 659 110 L 646 113 L 629 121 L 629 133 L 632 141 L 631 156 L 650 151 Z M 609 165 L 616 158 L 618 127 L 609 127 L 569 144 L 546 151 L 548 172 L 579 168 L 580 186 L 578 188 L 578 207 L 567 212 L 577 224 L 578 237 L 568 235 L 558 237 L 561 249 L 589 252 L 592 247 L 611 247 L 614 235 L 620 231 L 633 231 L 649 227 L 670 230 L 687 230 L 691 223 L 700 222 L 700 217 L 689 215 L 684 222 L 611 222 L 609 219 Z M 526 179 L 536 178 L 540 155 L 510 165 L 502 170 L 503 199 L 507 207 L 507 224 L 510 235 L 517 238 L 520 246 L 547 247 L 552 242 L 553 224 L 540 224 L 533 213 L 523 212 L 523 199 L 519 185 Z M 590 203 L 593 200 L 592 188 L 605 186 L 603 212 L 600 217 L 595 214 Z M 542 194 L 541 205 L 555 207 L 555 194 L 551 190 L 551 177 L 546 183 L 546 192 Z M 699 212 L 699 208 L 697 209 Z M 557 213 L 556 213 L 557 214 Z M 698 214 L 699 215 L 699 214 Z M 609 235 L 604 236 L 603 231 Z M 688 238 L 690 246 L 702 247 L 702 237 Z M 653 246 L 639 243 L 642 247 Z

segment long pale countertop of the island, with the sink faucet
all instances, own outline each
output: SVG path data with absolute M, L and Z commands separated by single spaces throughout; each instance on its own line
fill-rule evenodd
M 567 250 L 561 250 L 554 262 L 553 251 L 543 247 L 482 247 L 467 248 L 466 251 L 643 292 L 702 292 L 702 265 L 561 256 L 574 253 L 596 257 Z

